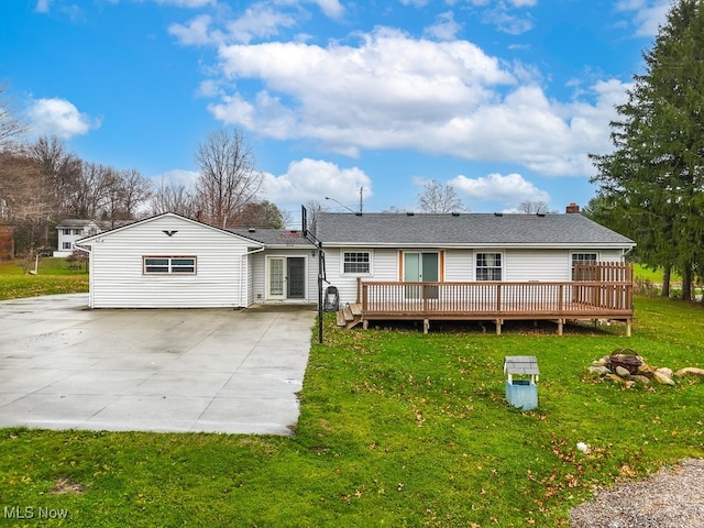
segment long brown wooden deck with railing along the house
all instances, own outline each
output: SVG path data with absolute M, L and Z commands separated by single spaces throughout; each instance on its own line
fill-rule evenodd
M 505 320 L 551 320 L 562 334 L 568 320 L 617 320 L 630 336 L 634 317 L 632 280 L 629 268 L 619 264 L 588 266 L 575 276 L 591 280 L 561 283 L 403 283 L 358 282 L 358 302 L 339 323 L 367 328 L 374 320 L 420 320 L 427 331 L 431 320 L 487 320 L 496 333 Z M 582 266 L 586 268 L 587 266 Z M 595 273 L 595 268 L 608 272 Z M 601 279 L 607 275 L 610 280 Z M 597 278 L 596 280 L 594 278 Z

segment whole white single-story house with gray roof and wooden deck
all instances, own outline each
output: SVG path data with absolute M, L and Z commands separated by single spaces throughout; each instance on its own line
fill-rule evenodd
M 635 243 L 579 213 L 321 213 L 326 286 L 348 326 L 374 319 L 632 320 Z M 78 242 L 91 308 L 317 302 L 297 231 L 223 230 L 164 213 Z M 352 319 L 350 319 L 352 317 Z

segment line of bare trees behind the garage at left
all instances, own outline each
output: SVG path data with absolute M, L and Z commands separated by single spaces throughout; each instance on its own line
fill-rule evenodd
M 67 218 L 109 229 L 170 211 L 219 228 L 284 227 L 280 210 L 260 198 L 263 174 L 237 130 L 213 132 L 198 146 L 190 188 L 81 160 L 56 136 L 23 142 L 26 128 L 3 94 L 0 87 L 0 242 L 11 232 L 18 255 L 55 248 L 55 228 Z

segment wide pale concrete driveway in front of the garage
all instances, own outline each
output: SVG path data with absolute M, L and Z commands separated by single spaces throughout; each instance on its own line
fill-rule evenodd
M 288 435 L 316 310 L 0 301 L 0 427 Z

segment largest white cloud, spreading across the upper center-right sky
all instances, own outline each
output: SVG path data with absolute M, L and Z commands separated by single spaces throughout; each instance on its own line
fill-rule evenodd
M 587 153 L 610 148 L 614 105 L 625 101 L 618 80 L 554 101 L 520 64 L 509 67 L 466 41 L 415 40 L 389 29 L 362 35 L 358 46 L 271 42 L 219 53 L 224 80 L 240 89 L 209 106 L 216 119 L 350 156 L 411 148 L 543 175 L 591 175 Z

